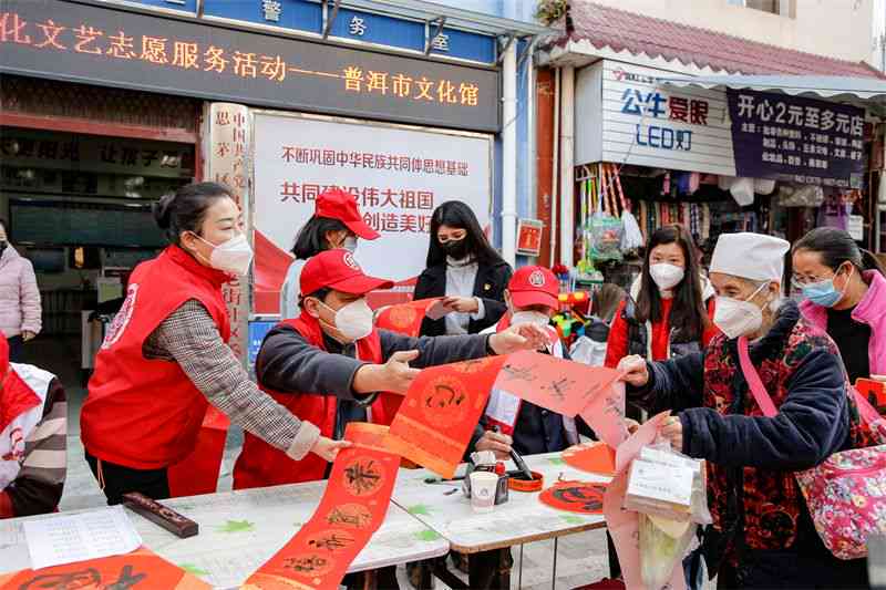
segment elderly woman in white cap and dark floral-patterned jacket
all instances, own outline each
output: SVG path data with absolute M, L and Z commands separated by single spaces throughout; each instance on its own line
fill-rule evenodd
M 793 472 L 864 445 L 833 341 L 780 296 L 790 245 L 758 234 L 720 236 L 710 279 L 723 332 L 702 352 L 661 363 L 626 356 L 628 396 L 671 410 L 661 429 L 708 460 L 713 526 L 702 552 L 718 588 L 865 588 L 864 560 L 841 561 L 815 531 Z M 777 415 L 765 417 L 739 364 L 740 337 Z

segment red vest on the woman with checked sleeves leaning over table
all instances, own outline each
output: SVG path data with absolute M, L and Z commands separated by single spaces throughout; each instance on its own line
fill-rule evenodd
M 203 303 L 230 338 L 222 284 L 229 277 L 171 246 L 136 267 L 126 300 L 107 329 L 80 415 L 86 452 L 133 469 L 159 469 L 196 445 L 206 397 L 176 362 L 147 360 L 145 339 L 185 301 Z

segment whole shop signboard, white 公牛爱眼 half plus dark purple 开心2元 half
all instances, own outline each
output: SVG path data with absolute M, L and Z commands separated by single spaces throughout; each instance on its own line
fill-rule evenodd
M 664 70 L 604 61 L 579 72 L 576 164 L 861 186 L 864 111 L 784 94 L 674 87 Z

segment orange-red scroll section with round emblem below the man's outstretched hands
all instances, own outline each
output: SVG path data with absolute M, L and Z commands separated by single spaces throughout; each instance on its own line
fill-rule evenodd
M 390 447 L 445 478 L 454 476 L 506 359 L 490 356 L 422 371 L 391 424 Z

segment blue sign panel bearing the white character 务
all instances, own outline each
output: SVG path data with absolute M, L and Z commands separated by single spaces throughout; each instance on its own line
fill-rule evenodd
M 346 8 L 339 9 L 330 34 L 413 51 L 424 50 L 423 22 L 394 19 Z

